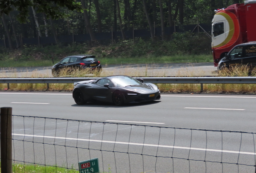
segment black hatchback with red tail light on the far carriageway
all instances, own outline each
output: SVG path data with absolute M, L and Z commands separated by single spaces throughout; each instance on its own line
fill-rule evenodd
M 52 75 L 54 77 L 58 77 L 60 70 L 63 68 L 70 68 L 71 70 L 74 68 L 90 68 L 90 70 L 93 72 L 93 70 L 101 71 L 102 66 L 95 56 L 81 54 L 63 58 L 60 62 L 52 66 Z

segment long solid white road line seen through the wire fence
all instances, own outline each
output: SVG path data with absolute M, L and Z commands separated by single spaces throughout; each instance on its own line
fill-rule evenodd
M 237 153 L 237 154 L 247 154 L 247 155 L 256 155 L 256 153 L 251 152 L 242 152 L 242 151 L 229 151 L 229 150 L 217 150 L 217 149 L 203 149 L 203 148 L 193 148 L 193 147 L 177 147 L 171 145 L 154 145 L 154 144 L 143 144 L 143 143 L 128 143 L 128 142 L 118 142 L 118 141 L 102 141 L 102 140 L 93 140 L 93 139 L 78 139 L 78 138 L 66 138 L 66 137 L 52 137 L 52 136 L 40 136 L 40 135 L 24 135 L 16 134 L 12 135 L 24 136 L 24 137 L 41 137 L 41 138 L 52 138 L 52 139 L 64 139 L 64 140 L 75 140 L 75 141 L 90 141 L 90 142 L 100 142 L 100 143 L 116 143 L 116 144 L 125 144 L 125 145 L 140 145 L 140 146 L 149 146 L 149 147 L 163 147 L 163 148 L 173 148 L 173 149 L 189 149 L 189 150 L 198 150 L 198 151 L 213 151 L 213 152 L 223 152 L 223 153 Z

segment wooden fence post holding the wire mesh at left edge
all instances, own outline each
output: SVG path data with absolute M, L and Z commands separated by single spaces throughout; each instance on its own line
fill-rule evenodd
M 12 108 L 0 111 L 1 172 L 12 173 Z

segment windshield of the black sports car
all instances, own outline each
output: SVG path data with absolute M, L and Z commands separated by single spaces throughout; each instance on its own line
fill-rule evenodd
M 114 76 L 111 81 L 116 84 L 117 87 L 128 87 L 142 84 L 140 81 L 129 76 Z

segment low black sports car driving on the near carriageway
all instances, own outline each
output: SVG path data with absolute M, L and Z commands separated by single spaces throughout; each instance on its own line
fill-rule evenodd
M 75 82 L 73 98 L 77 105 L 83 105 L 87 101 L 103 101 L 121 106 L 124 103 L 159 100 L 161 95 L 155 84 L 117 75 Z

